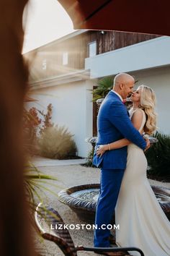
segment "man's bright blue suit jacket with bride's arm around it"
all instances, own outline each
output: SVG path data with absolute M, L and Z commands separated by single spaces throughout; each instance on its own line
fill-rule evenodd
M 96 155 L 99 145 L 127 138 L 138 147 L 145 149 L 146 141 L 140 135 L 128 116 L 120 97 L 110 91 L 99 108 L 97 116 L 97 145 L 94 150 L 93 164 L 107 169 L 125 169 L 127 146 L 116 150 L 107 150 L 102 157 Z

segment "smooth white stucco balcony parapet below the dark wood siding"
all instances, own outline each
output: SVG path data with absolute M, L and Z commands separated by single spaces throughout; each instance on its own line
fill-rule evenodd
M 91 70 L 91 78 L 97 78 L 167 64 L 170 64 L 170 37 L 162 36 L 87 58 L 85 69 Z

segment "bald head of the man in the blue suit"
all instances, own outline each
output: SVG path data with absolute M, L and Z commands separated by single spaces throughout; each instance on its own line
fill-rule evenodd
M 130 74 L 120 73 L 115 76 L 113 90 L 125 99 L 133 92 L 134 83 L 135 80 Z

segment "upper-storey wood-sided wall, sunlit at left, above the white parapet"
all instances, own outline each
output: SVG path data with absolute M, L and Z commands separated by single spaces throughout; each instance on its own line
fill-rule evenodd
M 60 74 L 84 69 L 84 59 L 89 57 L 89 43 L 97 41 L 97 54 L 114 51 L 117 48 L 130 46 L 145 40 L 158 37 L 139 33 L 123 33 L 115 31 L 89 30 L 72 38 L 56 40 L 53 44 L 37 48 L 32 62 L 33 80 L 53 77 Z M 68 64 L 63 65 L 63 52 L 68 52 Z M 25 56 L 29 56 L 25 54 Z M 42 69 L 42 61 L 46 59 L 47 69 Z

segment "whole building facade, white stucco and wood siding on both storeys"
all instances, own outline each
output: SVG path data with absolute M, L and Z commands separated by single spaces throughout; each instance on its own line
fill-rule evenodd
M 145 82 L 156 90 L 158 98 L 158 127 L 169 134 L 168 93 L 169 93 L 169 37 L 155 38 L 156 35 L 137 35 L 136 33 L 118 33 L 107 31 L 87 31 L 67 40 L 56 40 L 27 54 L 30 59 L 32 80 L 36 90 L 32 97 L 37 103 L 29 106 L 45 110 L 53 104 L 53 122 L 65 125 L 74 135 L 78 155 L 86 157 L 91 145 L 85 139 L 93 134 L 92 95 L 89 90 L 97 85 L 96 80 L 118 72 L 131 72 L 135 80 Z M 153 40 L 148 40 L 155 38 Z M 97 40 L 97 56 L 88 56 L 88 43 Z M 144 42 L 145 40 L 148 40 Z M 141 42 L 142 43 L 138 43 Z M 136 44 L 134 44 L 136 43 Z M 133 45 L 134 44 L 134 45 Z M 63 51 L 68 52 L 68 65 L 61 64 Z M 114 50 L 114 51 L 112 51 Z M 84 59 L 86 63 L 84 66 Z M 46 61 L 45 61 L 46 60 Z M 164 66 L 160 67 L 160 66 Z M 90 70 L 90 79 L 68 82 L 63 79 L 68 73 L 79 73 L 80 69 Z M 157 67 L 157 69 L 156 69 Z M 79 70 L 79 72 L 78 72 Z M 55 86 L 49 87 L 48 80 L 58 80 Z M 58 77 L 58 78 L 57 78 Z M 161 78 L 160 78 L 161 77 Z M 68 79 L 69 80 L 69 79 Z M 47 86 L 41 88 L 45 81 Z M 61 84 L 62 83 L 62 84 Z M 161 83 L 161 89 L 159 87 Z M 40 86 L 40 87 L 39 87 Z M 164 101 L 165 99 L 165 101 Z M 163 103 L 161 103 L 163 101 Z M 166 117 L 167 116 L 167 117 Z

